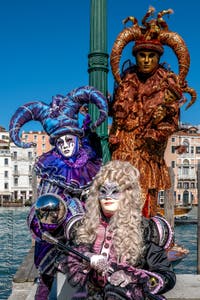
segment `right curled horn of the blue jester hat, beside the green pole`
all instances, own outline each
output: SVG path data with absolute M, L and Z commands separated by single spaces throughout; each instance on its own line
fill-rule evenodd
M 99 109 L 99 117 L 96 122 L 92 125 L 92 128 L 95 129 L 101 125 L 107 115 L 108 115 L 108 104 L 106 97 L 92 86 L 83 86 L 71 91 L 66 98 L 71 97 L 72 101 L 76 104 L 75 111 L 73 113 L 78 113 L 79 108 L 83 104 L 93 103 Z

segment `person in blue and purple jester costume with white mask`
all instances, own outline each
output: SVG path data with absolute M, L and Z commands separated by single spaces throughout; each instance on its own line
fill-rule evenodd
M 90 119 L 78 125 L 78 112 L 84 104 L 93 103 L 99 117 L 90 127 Z M 107 99 L 94 87 L 77 88 L 66 96 L 53 97 L 50 104 L 30 102 L 19 107 L 10 121 L 11 140 L 19 147 L 28 148 L 34 143 L 24 143 L 20 138 L 21 127 L 29 121 L 39 121 L 50 137 L 52 150 L 37 158 L 34 170 L 40 178 L 38 199 L 28 216 L 28 226 L 35 243 L 35 265 L 40 279 L 35 299 L 46 300 L 52 287 L 57 268 L 57 250 L 42 240 L 43 231 L 49 231 L 62 242 L 69 239 L 69 231 L 84 214 L 88 188 L 102 165 L 101 144 L 95 128 L 107 117 Z M 59 208 L 60 199 L 66 213 L 55 224 L 43 220 L 41 226 L 37 211 L 42 210 L 48 220 L 49 209 Z M 62 205 L 63 207 L 63 205 Z M 46 210 L 46 211 L 45 211 Z M 53 214 L 53 212 L 52 212 Z M 50 213 L 50 217 L 52 217 Z M 43 218 L 44 219 L 44 218 Z

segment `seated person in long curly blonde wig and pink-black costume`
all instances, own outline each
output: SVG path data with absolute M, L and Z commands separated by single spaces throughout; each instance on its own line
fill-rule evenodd
M 110 161 L 96 175 L 86 213 L 74 233 L 74 254 L 60 262 L 69 283 L 83 293 L 73 300 L 165 299 L 176 276 L 165 249 L 172 240 L 165 219 L 142 217 L 139 172 L 129 162 Z

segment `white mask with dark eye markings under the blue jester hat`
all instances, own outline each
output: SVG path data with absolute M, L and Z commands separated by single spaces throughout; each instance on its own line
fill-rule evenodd
M 69 158 L 78 151 L 78 137 L 75 135 L 64 135 L 57 139 L 56 147 L 63 156 Z

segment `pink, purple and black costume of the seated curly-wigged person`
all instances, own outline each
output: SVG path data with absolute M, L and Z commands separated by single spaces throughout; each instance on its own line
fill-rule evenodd
M 95 253 L 105 256 L 112 272 L 123 270 L 131 277 L 131 282 L 125 287 L 114 286 L 109 283 L 109 273 L 99 275 L 94 269 L 86 269 L 85 263 L 75 255 L 69 255 L 60 264 L 67 272 L 69 283 L 79 287 L 81 293 L 76 293 L 73 300 L 78 299 L 116 299 L 116 300 L 144 300 L 165 299 L 161 294 L 172 289 L 176 282 L 175 274 L 167 259 L 165 247 L 172 236 L 166 221 L 161 217 L 144 219 L 145 250 L 138 265 L 133 267 L 122 259 L 116 261 L 112 244 L 112 232 L 109 231 L 109 220 L 101 220 L 97 238 L 93 245 L 78 245 L 75 248 L 82 253 Z M 160 230 L 160 228 L 162 230 Z M 167 229 L 168 228 L 168 229 Z M 159 234 L 158 234 L 159 231 Z M 161 232 L 162 231 L 162 232 Z M 164 233 L 164 232 L 168 233 Z M 85 294 L 83 294 L 85 290 Z

